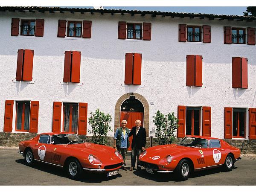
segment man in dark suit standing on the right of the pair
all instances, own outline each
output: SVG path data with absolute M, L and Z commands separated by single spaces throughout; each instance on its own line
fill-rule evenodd
M 137 119 L 135 121 L 136 127 L 131 129 L 129 136 L 133 135 L 132 143 L 131 143 L 131 169 L 130 171 L 134 170 L 136 156 L 137 156 L 137 169 L 141 169 L 138 166 L 139 156 L 142 149 L 145 149 L 146 145 L 146 130 L 143 127 L 140 127 L 141 121 Z

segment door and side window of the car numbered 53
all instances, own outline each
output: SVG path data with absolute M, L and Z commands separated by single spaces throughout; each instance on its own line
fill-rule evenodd
M 51 163 L 52 144 L 49 135 L 40 135 L 39 140 L 35 143 L 33 154 L 35 160 Z

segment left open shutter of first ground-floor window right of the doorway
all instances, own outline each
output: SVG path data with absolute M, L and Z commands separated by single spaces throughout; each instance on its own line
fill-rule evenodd
M 183 138 L 186 130 L 186 106 L 178 105 L 178 120 L 177 137 Z

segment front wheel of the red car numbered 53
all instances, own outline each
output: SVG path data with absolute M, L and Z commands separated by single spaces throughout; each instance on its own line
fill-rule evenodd
M 70 179 L 79 180 L 82 173 L 82 167 L 77 159 L 72 158 L 67 162 L 66 171 Z

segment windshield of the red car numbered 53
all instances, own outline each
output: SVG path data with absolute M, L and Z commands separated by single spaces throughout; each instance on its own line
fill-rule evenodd
M 52 135 L 52 144 L 79 144 L 84 143 L 76 134 Z

